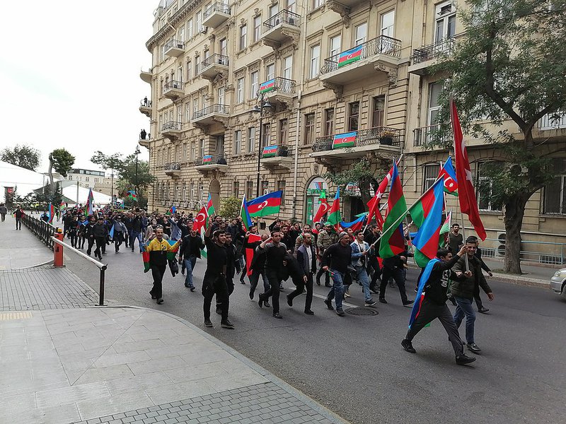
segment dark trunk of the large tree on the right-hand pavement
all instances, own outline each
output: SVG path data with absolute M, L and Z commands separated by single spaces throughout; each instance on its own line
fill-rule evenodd
M 529 196 L 516 194 L 505 203 L 505 259 L 503 270 L 521 274 L 521 228 Z

